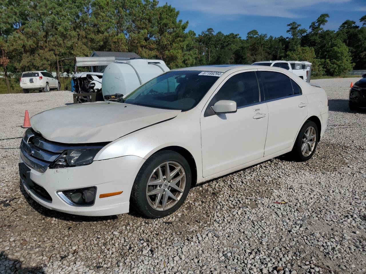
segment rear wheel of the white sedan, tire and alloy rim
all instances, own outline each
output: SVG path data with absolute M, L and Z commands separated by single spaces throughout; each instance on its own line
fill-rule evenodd
M 306 121 L 300 129 L 292 149 L 292 159 L 305 162 L 313 157 L 318 145 L 318 127 L 313 121 Z

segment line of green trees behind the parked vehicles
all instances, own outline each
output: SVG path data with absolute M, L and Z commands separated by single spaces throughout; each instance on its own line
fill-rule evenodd
M 337 31 L 325 30 L 329 15 L 321 14 L 309 29 L 289 23 L 288 37 L 251 30 L 242 38 L 212 28 L 197 35 L 178 20 L 179 11 L 157 0 L 4 0 L 0 10 L 0 71 L 8 91 L 11 76 L 55 71 L 57 60 L 94 50 L 135 52 L 172 69 L 281 59 L 312 62 L 315 76 L 366 69 L 366 15 L 362 27 L 346 20 Z M 63 71 L 73 71 L 72 64 Z

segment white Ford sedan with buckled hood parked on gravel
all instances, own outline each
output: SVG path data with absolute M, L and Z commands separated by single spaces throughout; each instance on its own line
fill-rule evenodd
M 285 69 L 176 69 L 123 102 L 34 115 L 19 174 L 26 192 L 49 209 L 105 216 L 132 206 L 160 218 L 175 212 L 195 183 L 285 153 L 309 160 L 327 120 L 325 91 Z

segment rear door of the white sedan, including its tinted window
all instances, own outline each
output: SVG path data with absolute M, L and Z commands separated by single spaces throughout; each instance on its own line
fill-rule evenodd
M 290 148 L 307 117 L 307 98 L 290 77 L 276 71 L 259 71 L 268 106 L 268 130 L 264 156 Z

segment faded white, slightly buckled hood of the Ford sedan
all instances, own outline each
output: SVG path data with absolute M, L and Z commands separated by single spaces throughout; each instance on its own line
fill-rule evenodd
M 49 141 L 79 144 L 114 141 L 128 133 L 176 117 L 165 110 L 116 102 L 72 104 L 34 115 L 33 130 Z

